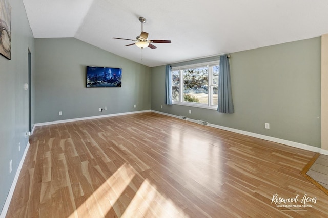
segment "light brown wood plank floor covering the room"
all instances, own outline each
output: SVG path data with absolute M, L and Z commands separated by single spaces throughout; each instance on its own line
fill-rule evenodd
M 6 217 L 327 217 L 315 155 L 157 113 L 36 127 Z

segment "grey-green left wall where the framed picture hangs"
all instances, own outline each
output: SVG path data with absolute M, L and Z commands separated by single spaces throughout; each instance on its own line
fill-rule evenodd
M 11 10 L 11 60 L 0 56 L 0 211 L 2 211 L 20 160 L 28 144 L 29 95 L 28 50 L 32 54 L 34 70 L 34 38 L 22 0 L 8 1 Z M 33 84 L 33 75 L 32 75 Z M 34 123 L 34 88 L 32 91 L 32 124 Z M 18 144 L 21 144 L 19 151 Z M 12 160 L 12 172 L 9 163 Z

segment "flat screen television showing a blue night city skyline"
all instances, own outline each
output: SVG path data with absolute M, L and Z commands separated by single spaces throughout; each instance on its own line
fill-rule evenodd
M 87 87 L 122 87 L 122 69 L 87 66 Z

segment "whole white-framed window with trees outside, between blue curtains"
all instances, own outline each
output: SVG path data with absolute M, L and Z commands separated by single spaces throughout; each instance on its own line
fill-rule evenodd
M 216 109 L 219 61 L 172 67 L 172 103 Z

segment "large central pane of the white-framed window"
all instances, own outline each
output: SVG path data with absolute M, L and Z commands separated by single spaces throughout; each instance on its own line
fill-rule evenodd
M 208 104 L 208 68 L 183 70 L 183 100 Z

